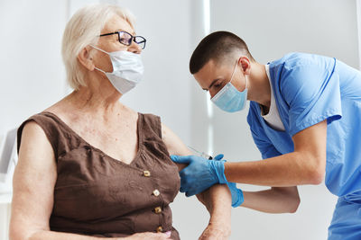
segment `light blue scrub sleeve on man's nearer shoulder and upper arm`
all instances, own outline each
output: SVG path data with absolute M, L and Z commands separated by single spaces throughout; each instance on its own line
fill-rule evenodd
M 342 116 L 338 74 L 316 64 L 285 67 L 281 93 L 289 105 L 291 136 L 323 120 Z

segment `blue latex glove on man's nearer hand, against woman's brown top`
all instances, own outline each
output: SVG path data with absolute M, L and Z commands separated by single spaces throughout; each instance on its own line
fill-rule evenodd
M 180 171 L 180 192 L 185 192 L 187 197 L 205 191 L 216 183 L 227 183 L 225 160 L 175 155 L 171 156 L 171 160 L 176 164 L 189 164 Z

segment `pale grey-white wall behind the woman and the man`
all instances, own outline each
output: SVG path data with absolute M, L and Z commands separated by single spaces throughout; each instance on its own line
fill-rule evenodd
M 60 56 L 62 31 L 79 7 L 96 2 L 0 1 L 0 135 L 69 93 Z M 148 40 L 143 83 L 125 94 L 122 102 L 136 111 L 160 115 L 187 145 L 224 153 L 229 161 L 260 159 L 245 121 L 246 111 L 228 114 L 210 105 L 213 117 L 209 118 L 208 95 L 189 74 L 190 54 L 204 37 L 204 3 L 208 1 L 100 2 L 129 8 L 137 17 L 136 32 Z M 356 10 L 356 0 L 210 0 L 210 31 L 234 31 L 264 64 L 289 51 L 304 51 L 358 67 L 361 39 L 357 40 Z M 296 214 L 234 209 L 231 239 L 326 239 L 335 197 L 324 185 L 301 186 L 300 193 Z M 8 208 L 0 207 L 0 216 L 5 216 Z M 197 239 L 208 223 L 203 206 L 179 194 L 171 207 L 182 239 Z M 0 239 L 5 239 L 6 221 L 0 218 Z

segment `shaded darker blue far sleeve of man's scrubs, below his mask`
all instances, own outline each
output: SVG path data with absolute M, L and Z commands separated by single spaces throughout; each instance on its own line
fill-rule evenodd
M 255 145 L 261 152 L 262 158 L 270 158 L 273 156 L 281 156 L 281 153 L 273 146 L 270 139 L 265 135 L 264 129 L 261 127 L 257 115 L 253 112 L 252 104 L 247 116 L 247 122 L 251 129 L 252 138 L 254 138 Z

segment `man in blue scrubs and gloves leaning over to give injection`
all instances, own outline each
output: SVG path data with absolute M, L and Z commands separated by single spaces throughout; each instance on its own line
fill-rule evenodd
M 338 196 L 329 240 L 361 239 L 359 71 L 335 58 L 304 53 L 264 66 L 235 34 L 217 31 L 194 50 L 190 72 L 224 111 L 241 111 L 250 101 L 247 121 L 264 160 L 228 163 L 171 156 L 189 164 L 180 171 L 180 191 L 191 196 L 227 183 L 234 207 L 293 212 L 298 192 L 292 186 L 325 180 Z M 253 194 L 233 182 L 273 187 Z

